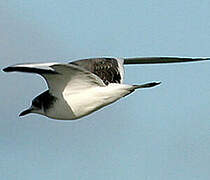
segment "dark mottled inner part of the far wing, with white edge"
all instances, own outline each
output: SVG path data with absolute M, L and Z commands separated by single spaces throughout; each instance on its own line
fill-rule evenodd
M 78 65 L 92 72 L 93 74 L 100 77 L 106 85 L 109 83 L 120 84 L 122 79 L 119 72 L 118 62 L 114 58 L 83 59 L 70 62 L 70 64 Z

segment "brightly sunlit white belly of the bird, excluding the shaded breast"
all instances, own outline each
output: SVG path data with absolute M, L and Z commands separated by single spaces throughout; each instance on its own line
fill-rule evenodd
M 113 86 L 113 87 L 112 87 Z M 90 114 L 130 93 L 124 85 L 93 87 L 64 94 L 64 99 L 77 118 Z

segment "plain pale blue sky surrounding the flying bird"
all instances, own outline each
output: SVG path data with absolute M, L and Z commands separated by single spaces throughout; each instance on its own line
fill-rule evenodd
M 1 0 L 0 68 L 95 56 L 210 56 L 209 0 Z M 210 179 L 210 61 L 125 68 L 162 81 L 79 121 L 19 118 L 47 87 L 0 72 L 1 180 Z

